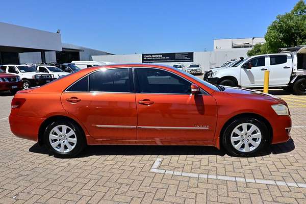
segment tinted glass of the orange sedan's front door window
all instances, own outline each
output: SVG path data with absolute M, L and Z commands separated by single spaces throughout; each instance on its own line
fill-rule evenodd
M 138 88 L 141 93 L 188 94 L 191 83 L 169 71 L 137 68 Z

